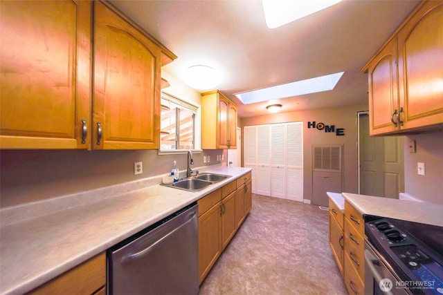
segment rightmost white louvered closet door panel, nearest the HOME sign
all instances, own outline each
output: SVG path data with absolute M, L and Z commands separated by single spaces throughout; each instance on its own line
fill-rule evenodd
M 303 122 L 287 124 L 287 199 L 303 202 Z

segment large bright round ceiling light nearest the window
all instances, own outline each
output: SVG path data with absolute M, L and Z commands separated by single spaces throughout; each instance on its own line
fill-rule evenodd
M 185 83 L 198 90 L 213 89 L 219 84 L 217 71 L 210 66 L 191 66 L 186 70 Z

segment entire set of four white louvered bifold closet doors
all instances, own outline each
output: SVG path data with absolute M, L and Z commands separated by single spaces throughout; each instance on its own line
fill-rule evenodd
M 253 168 L 253 193 L 302 202 L 302 122 L 245 126 L 244 166 Z

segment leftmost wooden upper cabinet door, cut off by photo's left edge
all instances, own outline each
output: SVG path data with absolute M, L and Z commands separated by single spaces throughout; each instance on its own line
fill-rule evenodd
M 91 2 L 1 1 L 0 30 L 0 148 L 87 149 Z

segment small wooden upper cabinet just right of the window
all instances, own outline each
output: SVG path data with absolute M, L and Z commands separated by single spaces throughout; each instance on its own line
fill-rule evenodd
M 237 149 L 237 106 L 219 91 L 201 96 L 201 148 Z

